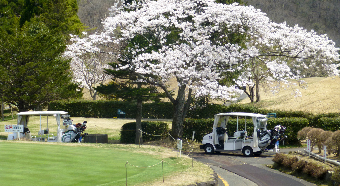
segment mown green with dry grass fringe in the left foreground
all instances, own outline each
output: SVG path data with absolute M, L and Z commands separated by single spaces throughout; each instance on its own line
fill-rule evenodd
M 167 148 L 122 144 L 46 143 L 0 140 L 0 185 L 11 186 L 119 186 L 126 184 L 126 161 L 141 167 L 162 159 L 171 164 L 183 160 Z M 162 163 L 139 168 L 128 165 L 128 185 L 189 185 L 210 180 L 212 170 L 189 158 L 177 164 Z

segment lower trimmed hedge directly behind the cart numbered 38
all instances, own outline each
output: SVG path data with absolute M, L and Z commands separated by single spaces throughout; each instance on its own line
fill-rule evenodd
M 248 136 L 253 135 L 254 125 L 251 119 L 247 119 Z M 233 136 L 236 131 L 237 119 L 229 119 L 227 122 L 227 134 Z M 185 119 L 183 122 L 183 138 L 190 139 L 192 132 L 195 131 L 194 139 L 202 141 L 202 138 L 212 132 L 214 119 Z M 285 142 L 289 144 L 299 143 L 297 139 L 297 132 L 303 127 L 308 126 L 308 120 L 305 118 L 269 118 L 267 122 L 267 129 L 270 130 L 276 125 L 287 127 L 285 135 L 288 137 Z M 244 119 L 239 119 L 239 130 L 244 129 Z

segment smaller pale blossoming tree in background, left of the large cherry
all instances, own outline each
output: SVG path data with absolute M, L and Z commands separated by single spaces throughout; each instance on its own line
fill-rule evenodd
M 105 53 L 75 54 L 72 51 L 66 51 L 64 56 L 72 58 L 70 66 L 73 80 L 81 83 L 90 92 L 91 98 L 96 100 L 97 91 L 94 88 L 110 79 L 105 69 L 110 69 L 111 66 L 107 63 L 115 61 L 116 57 Z

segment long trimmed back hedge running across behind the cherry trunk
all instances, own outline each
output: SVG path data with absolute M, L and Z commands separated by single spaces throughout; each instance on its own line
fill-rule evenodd
M 49 110 L 63 110 L 69 112 L 72 117 L 85 118 L 95 116 L 98 116 L 99 118 L 117 117 L 118 109 L 121 109 L 126 113 L 125 118 L 136 118 L 136 107 L 136 103 L 111 100 L 61 100 L 53 101 L 49 104 Z M 277 119 L 305 118 L 308 120 L 308 126 L 310 127 L 322 128 L 324 130 L 331 131 L 340 129 L 340 112 L 314 115 L 311 112 L 304 111 L 264 109 L 253 104 L 232 104 L 230 106 L 208 104 L 204 107 L 189 110 L 186 117 L 191 119 L 213 118 L 215 114 L 223 112 L 250 112 L 264 115 L 267 113 L 276 113 Z M 142 117 L 172 119 L 173 105 L 171 102 L 143 103 Z

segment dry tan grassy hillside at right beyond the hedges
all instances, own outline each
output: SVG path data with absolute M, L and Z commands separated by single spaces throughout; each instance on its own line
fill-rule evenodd
M 305 78 L 308 88 L 299 89 L 302 97 L 294 98 L 291 89 L 282 90 L 277 96 L 266 95 L 261 88 L 261 102 L 257 103 L 265 108 L 283 110 L 303 110 L 314 113 L 340 112 L 340 78 Z M 249 103 L 247 97 L 241 103 Z

